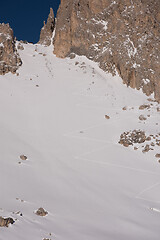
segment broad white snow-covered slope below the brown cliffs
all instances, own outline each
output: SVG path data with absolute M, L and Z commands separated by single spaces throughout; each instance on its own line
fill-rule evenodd
M 157 103 L 85 57 L 19 52 L 19 75 L 0 76 L 0 216 L 16 220 L 0 240 L 159 240 L 159 146 L 118 143 L 160 132 Z

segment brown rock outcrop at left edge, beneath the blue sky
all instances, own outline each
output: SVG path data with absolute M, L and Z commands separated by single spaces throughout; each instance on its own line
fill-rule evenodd
M 15 73 L 22 61 L 15 47 L 13 30 L 9 24 L 0 24 L 0 75 Z

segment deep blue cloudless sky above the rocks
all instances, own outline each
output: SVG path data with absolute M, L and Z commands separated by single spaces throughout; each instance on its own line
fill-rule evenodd
M 56 15 L 60 0 L 8 0 L 0 3 L 0 23 L 9 23 L 17 40 L 37 43 L 50 7 Z

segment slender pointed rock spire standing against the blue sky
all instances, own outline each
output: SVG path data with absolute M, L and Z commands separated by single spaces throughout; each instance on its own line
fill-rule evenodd
M 50 13 L 48 15 L 47 23 L 44 21 L 44 26 L 41 29 L 39 44 L 49 46 L 51 44 L 51 39 L 55 27 L 55 18 L 53 9 L 50 8 Z

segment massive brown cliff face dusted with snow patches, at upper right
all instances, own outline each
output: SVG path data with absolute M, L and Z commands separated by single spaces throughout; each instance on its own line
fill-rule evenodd
M 159 9 L 159 0 L 61 0 L 54 53 L 85 55 L 160 101 Z

